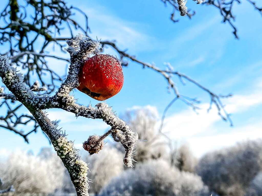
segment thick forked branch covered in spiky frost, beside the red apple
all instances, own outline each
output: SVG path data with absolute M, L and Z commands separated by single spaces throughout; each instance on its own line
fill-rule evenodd
M 103 119 L 111 128 L 111 135 L 116 142 L 121 142 L 125 148 L 124 164 L 132 167 L 132 156 L 138 140 L 137 133 L 133 132 L 124 121 L 119 119 L 106 103 L 99 103 L 95 108 L 75 103 L 74 97 L 69 93 L 79 85 L 79 68 L 83 61 L 91 54 L 99 52 L 99 43 L 91 41 L 88 37 L 78 35 L 67 41 L 67 51 L 71 56 L 69 74 L 56 94 L 39 96 L 33 93 L 23 83 L 23 76 L 9 65 L 7 56 L 1 57 L 0 76 L 6 87 L 13 93 L 15 99 L 21 102 L 34 116 L 41 129 L 47 134 L 52 142 L 58 156 L 62 159 L 68 169 L 72 182 L 78 196 L 88 195 L 88 166 L 81 160 L 73 142 L 67 141 L 65 133 L 57 129 L 55 122 L 51 122 L 44 109 L 61 108 L 74 113 L 76 116 Z

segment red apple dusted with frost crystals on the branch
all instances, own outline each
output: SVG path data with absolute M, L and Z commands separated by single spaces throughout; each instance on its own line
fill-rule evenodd
M 79 73 L 77 89 L 103 101 L 116 95 L 124 82 L 119 60 L 108 54 L 97 54 L 85 61 Z

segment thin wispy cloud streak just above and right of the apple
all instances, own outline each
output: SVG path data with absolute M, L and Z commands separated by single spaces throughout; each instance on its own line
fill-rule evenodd
M 146 32 L 145 24 L 123 20 L 104 7 L 83 8 L 89 16 L 91 35 L 102 40 L 117 40 L 122 49 L 136 52 L 152 49 L 155 38 Z M 94 21 L 93 21 L 94 20 Z

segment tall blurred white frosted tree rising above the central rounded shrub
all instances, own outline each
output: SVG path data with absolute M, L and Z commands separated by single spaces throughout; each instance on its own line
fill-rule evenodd
M 152 159 L 165 159 L 181 171 L 194 172 L 197 159 L 194 157 L 188 144 L 182 144 L 178 149 L 170 149 L 166 140 L 167 135 L 159 133 L 159 114 L 155 107 L 133 107 L 127 109 L 122 116 L 136 131 L 140 139 L 146 142 L 137 144 L 135 161 L 138 163 Z

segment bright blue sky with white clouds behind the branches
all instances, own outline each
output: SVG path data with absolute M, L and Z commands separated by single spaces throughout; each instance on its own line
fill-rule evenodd
M 190 144 L 195 155 L 201 156 L 209 150 L 244 139 L 262 138 L 262 26 L 259 25 L 262 18 L 249 3 L 244 1 L 234 5 L 233 9 L 240 40 L 234 38 L 228 24 L 221 23 L 221 16 L 215 8 L 196 5 L 195 2 L 188 2 L 188 7 L 196 10 L 192 20 L 178 16 L 180 21 L 175 24 L 169 20 L 172 8 L 157 0 L 154 3 L 151 0 L 68 0 L 68 4 L 80 7 L 89 16 L 92 37 L 117 40 L 121 49 L 128 49 L 140 60 L 155 63 L 163 69 L 164 63 L 168 62 L 174 70 L 192 77 L 217 94 L 234 94 L 223 100 L 227 111 L 232 113 L 234 127 L 230 127 L 217 116 L 215 108 L 206 113 L 208 94 L 188 82 L 183 86 L 174 77 L 182 94 L 202 101 L 198 115 L 180 101 L 170 108 L 163 130 L 174 141 Z M 1 10 L 4 5 L 0 5 Z M 75 17 L 82 20 L 79 15 Z M 66 33 L 62 32 L 63 35 Z M 67 56 L 58 50 L 52 53 Z M 110 48 L 106 48 L 106 53 L 116 54 Z M 49 63 L 54 70 L 64 72 L 63 63 L 57 64 L 53 59 Z M 118 115 L 128 108 L 150 105 L 161 116 L 174 97 L 167 92 L 163 77 L 133 62 L 129 62 L 123 72 L 121 92 L 106 102 Z M 80 104 L 97 103 L 77 90 L 74 95 Z M 0 110 L 0 113 L 4 112 L 4 109 Z M 57 109 L 48 110 L 48 113 L 52 120 L 61 120 L 59 126 L 66 130 L 68 138 L 75 141 L 77 147 L 89 135 L 100 135 L 108 129 L 101 120 L 76 119 L 73 114 Z M 29 136 L 29 145 L 6 130 L 0 129 L 0 136 L 0 155 L 18 149 L 37 153 L 41 147 L 49 146 L 41 131 Z

